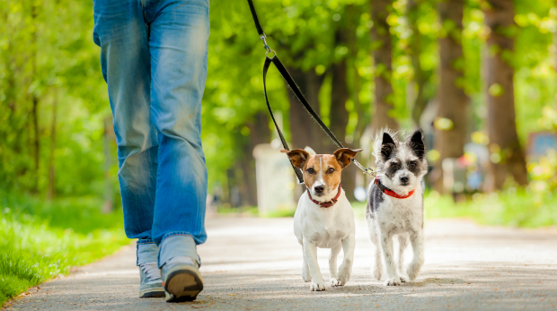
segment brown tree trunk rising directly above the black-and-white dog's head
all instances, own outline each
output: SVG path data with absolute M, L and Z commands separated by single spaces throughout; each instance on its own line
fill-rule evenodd
M 375 65 L 375 112 L 373 114 L 373 130 L 388 127 L 398 129 L 393 116 L 393 43 L 387 17 L 391 11 L 391 0 L 371 1 L 371 45 Z

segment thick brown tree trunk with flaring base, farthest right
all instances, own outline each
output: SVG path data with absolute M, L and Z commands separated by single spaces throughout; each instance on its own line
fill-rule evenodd
M 509 28 L 516 27 L 513 2 L 488 0 L 491 8 L 486 9 L 485 23 L 491 30 L 487 39 L 490 51 L 485 65 L 487 82 L 487 126 L 490 137 L 491 180 L 488 190 L 501 189 L 509 175 L 519 185 L 526 185 L 526 159 L 518 142 L 514 68 L 510 64 L 514 38 Z M 509 53 L 510 52 L 510 53 Z

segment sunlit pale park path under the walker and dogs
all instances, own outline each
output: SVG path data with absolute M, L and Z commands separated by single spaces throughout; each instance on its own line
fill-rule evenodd
M 30 289 L 8 310 L 557 310 L 557 233 L 481 227 L 465 220 L 426 222 L 419 279 L 386 288 L 372 280 L 371 242 L 357 220 L 352 278 L 309 291 L 292 219 L 216 218 L 199 246 L 205 290 L 192 303 L 137 298 L 135 248 Z M 320 265 L 328 279 L 327 252 Z M 407 260 L 411 255 L 406 255 Z

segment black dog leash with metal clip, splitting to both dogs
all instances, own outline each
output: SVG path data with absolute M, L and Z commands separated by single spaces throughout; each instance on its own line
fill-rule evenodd
M 282 143 L 282 146 L 287 151 L 290 151 L 290 148 L 288 147 L 287 140 L 284 138 L 284 135 L 282 134 L 282 131 L 280 131 L 279 125 L 277 124 L 277 121 L 275 120 L 275 117 L 273 115 L 273 110 L 272 110 L 272 108 L 270 108 L 269 98 L 267 96 L 267 71 L 269 70 L 269 67 L 270 67 L 271 63 L 273 65 L 275 65 L 275 67 L 279 70 L 279 73 L 282 75 L 284 80 L 287 82 L 290 89 L 292 89 L 292 91 L 296 95 L 296 98 L 304 106 L 305 110 L 315 120 L 315 122 L 317 122 L 317 124 L 319 126 L 321 126 L 321 128 L 323 129 L 325 134 L 327 134 L 329 136 L 329 138 L 331 138 L 332 143 L 337 145 L 339 148 L 344 148 L 344 146 L 342 146 L 342 143 L 340 143 L 340 141 L 335 137 L 335 135 L 332 134 L 332 132 L 327 127 L 327 125 L 325 125 L 323 123 L 323 121 L 321 120 L 321 117 L 319 117 L 317 115 L 317 113 L 315 113 L 314 108 L 312 108 L 310 106 L 310 104 L 307 102 L 307 99 L 305 99 L 304 94 L 302 93 L 302 91 L 300 91 L 300 88 L 296 85 L 296 82 L 294 81 L 294 79 L 292 79 L 292 76 L 290 76 L 290 73 L 288 73 L 287 68 L 284 65 L 282 65 L 282 63 L 280 62 L 279 57 L 277 56 L 277 52 L 272 50 L 269 47 L 269 45 L 267 45 L 267 35 L 265 34 L 265 32 L 263 31 L 263 28 L 261 27 L 261 24 L 259 22 L 259 18 L 257 17 L 257 13 L 255 12 L 255 7 L 253 6 L 252 0 L 248 0 L 248 4 L 250 5 L 250 11 L 252 11 L 252 18 L 253 18 L 253 22 L 255 23 L 255 29 L 259 33 L 259 39 L 261 39 L 263 41 L 263 48 L 265 48 L 267 50 L 265 52 L 265 63 L 263 64 L 263 91 L 265 92 L 265 102 L 267 103 L 267 109 L 269 110 L 270 118 L 273 120 L 273 124 L 275 125 L 275 128 L 277 129 L 277 132 L 279 133 L 280 142 Z M 354 162 L 354 164 L 356 164 L 356 166 L 359 169 L 361 169 L 364 172 L 364 174 L 367 174 L 368 176 L 371 176 L 371 177 L 376 176 L 376 171 L 373 168 L 365 168 L 356 159 L 352 159 L 352 162 Z M 290 162 L 290 164 L 292 165 L 292 168 L 294 169 L 294 172 L 296 173 L 298 183 L 300 185 L 303 185 L 304 184 L 304 176 L 302 175 L 302 171 L 300 170 L 300 168 L 296 168 L 294 166 L 294 164 L 292 164 L 292 162 Z

